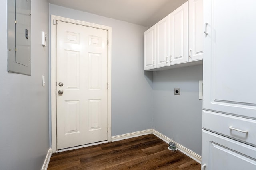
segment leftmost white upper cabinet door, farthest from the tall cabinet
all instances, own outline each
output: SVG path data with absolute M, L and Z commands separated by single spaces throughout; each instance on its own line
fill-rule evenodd
M 156 68 L 156 25 L 144 32 L 144 70 Z

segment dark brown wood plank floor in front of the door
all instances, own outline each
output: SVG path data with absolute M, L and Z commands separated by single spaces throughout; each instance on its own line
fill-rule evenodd
M 153 134 L 52 154 L 48 170 L 200 170 Z

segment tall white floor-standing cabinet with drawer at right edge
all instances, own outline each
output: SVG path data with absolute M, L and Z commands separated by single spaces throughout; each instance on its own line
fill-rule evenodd
M 204 0 L 203 170 L 256 169 L 255 9 Z

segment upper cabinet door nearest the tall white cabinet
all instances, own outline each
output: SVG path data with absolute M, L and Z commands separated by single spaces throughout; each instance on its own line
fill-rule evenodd
M 203 0 L 189 0 L 188 12 L 188 60 L 201 60 L 204 55 Z

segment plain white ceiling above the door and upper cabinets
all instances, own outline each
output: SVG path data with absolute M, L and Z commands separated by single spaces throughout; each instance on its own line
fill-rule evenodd
M 187 0 L 48 0 L 50 4 L 151 27 Z

